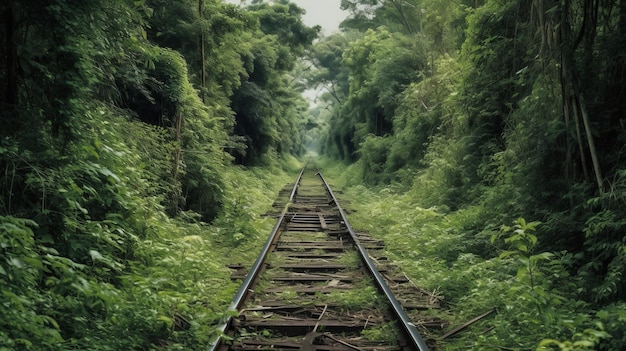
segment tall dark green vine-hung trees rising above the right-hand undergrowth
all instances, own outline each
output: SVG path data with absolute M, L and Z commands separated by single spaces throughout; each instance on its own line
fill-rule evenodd
M 539 269 L 537 260 L 560 260 L 561 273 L 578 289 L 560 290 L 554 272 L 544 292 L 530 284 L 536 295 L 526 297 L 539 314 L 550 315 L 547 306 L 557 302 L 547 300 L 554 296 L 589 304 L 578 310 L 580 318 L 593 319 L 594 308 L 612 315 L 623 306 L 626 1 L 344 0 L 341 6 L 351 14 L 343 32 L 313 49 L 311 81 L 328 91 L 322 103 L 329 112 L 318 123 L 322 151 L 354 163 L 355 183 L 396 189 L 411 204 L 465 216 L 459 255 L 497 258 L 506 248 L 485 238 L 516 221 L 511 232 L 529 236 L 511 234 L 505 243 L 520 260 L 535 260 L 520 272 Z M 546 256 L 532 256 L 533 250 Z M 522 273 L 519 281 L 527 277 Z M 539 318 L 532 315 L 526 323 Z M 615 339 L 594 345 L 614 349 L 625 326 L 599 319 Z M 533 348 L 536 335 L 592 328 L 582 320 L 565 325 L 555 317 L 523 335 L 502 328 L 482 339 Z

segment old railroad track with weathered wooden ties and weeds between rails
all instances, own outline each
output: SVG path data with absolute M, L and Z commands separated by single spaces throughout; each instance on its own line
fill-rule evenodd
M 445 323 L 420 311 L 439 299 L 372 255 L 383 243 L 354 232 L 320 172 L 303 168 L 281 193 L 257 261 L 249 270 L 231 266 L 243 279 L 230 307 L 238 315 L 211 350 L 433 349 L 420 331 Z

